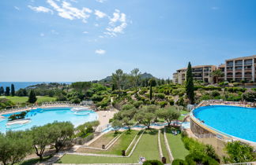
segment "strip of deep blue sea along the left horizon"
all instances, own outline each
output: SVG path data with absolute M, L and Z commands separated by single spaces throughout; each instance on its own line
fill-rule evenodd
M 12 84 L 15 87 L 15 90 L 20 90 L 21 88 L 25 88 L 28 86 L 33 86 L 36 84 L 40 83 L 66 83 L 66 84 L 71 84 L 72 82 L 0 82 L 0 86 L 3 86 L 4 89 L 6 90 L 6 86 L 11 86 Z

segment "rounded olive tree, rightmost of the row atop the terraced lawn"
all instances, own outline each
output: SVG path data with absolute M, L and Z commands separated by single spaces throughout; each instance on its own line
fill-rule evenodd
M 171 126 L 172 120 L 179 119 L 180 116 L 180 112 L 175 107 L 161 108 L 156 114 L 168 123 L 168 127 Z

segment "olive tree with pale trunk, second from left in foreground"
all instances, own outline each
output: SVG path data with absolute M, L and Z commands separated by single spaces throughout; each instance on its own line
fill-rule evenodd
M 52 142 L 51 134 L 49 134 L 49 128 L 43 127 L 32 127 L 32 146 L 35 149 L 36 156 L 40 157 L 40 161 L 43 159 L 43 152 L 47 145 Z

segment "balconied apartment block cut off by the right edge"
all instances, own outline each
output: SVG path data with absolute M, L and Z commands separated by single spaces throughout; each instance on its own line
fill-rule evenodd
M 256 82 L 255 67 L 256 55 L 226 60 L 224 80 L 228 82 L 241 82 L 241 80 Z

